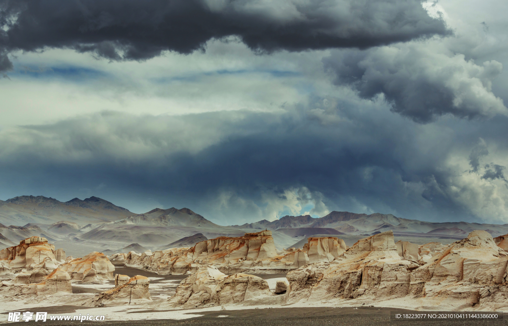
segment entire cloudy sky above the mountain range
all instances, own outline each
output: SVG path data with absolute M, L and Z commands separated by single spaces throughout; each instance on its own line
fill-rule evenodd
M 508 223 L 506 12 L 0 0 L 0 200 Z

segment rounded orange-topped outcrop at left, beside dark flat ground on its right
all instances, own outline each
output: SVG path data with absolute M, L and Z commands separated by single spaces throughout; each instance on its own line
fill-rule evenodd
M 113 280 L 115 266 L 102 252 L 93 251 L 83 258 L 76 258 L 60 266 L 71 275 L 73 281 L 96 282 Z

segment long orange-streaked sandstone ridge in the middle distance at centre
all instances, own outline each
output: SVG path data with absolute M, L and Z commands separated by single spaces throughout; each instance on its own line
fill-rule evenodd
M 158 274 L 186 274 L 202 266 L 214 266 L 224 273 L 283 273 L 311 263 L 331 261 L 345 249 L 335 237 L 309 238 L 304 250 L 277 253 L 271 231 L 246 233 L 242 237 L 218 237 L 197 243 L 192 248 L 171 248 L 129 252 L 125 265 L 148 269 Z M 307 250 L 307 251 L 305 251 Z M 118 256 L 115 256 L 115 258 Z

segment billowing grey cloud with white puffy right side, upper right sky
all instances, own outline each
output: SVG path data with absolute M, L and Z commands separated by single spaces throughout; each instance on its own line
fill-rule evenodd
M 492 93 L 492 80 L 502 64 L 475 64 L 462 54 L 413 43 L 335 51 L 324 59 L 337 85 L 350 85 L 359 96 L 383 94 L 392 111 L 428 123 L 443 115 L 473 119 L 507 114 L 502 99 Z

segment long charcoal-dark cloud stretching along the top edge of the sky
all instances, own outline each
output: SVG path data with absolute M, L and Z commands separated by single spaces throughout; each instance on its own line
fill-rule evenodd
M 450 30 L 420 0 L 3 0 L 0 33 L 8 51 L 71 48 L 143 60 L 232 35 L 270 52 L 369 48 Z

